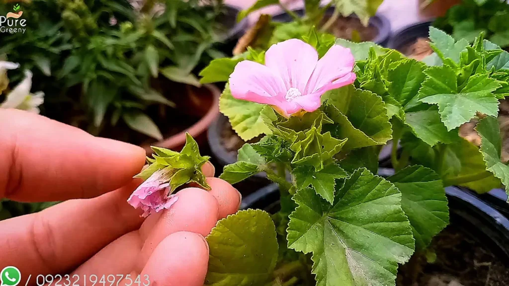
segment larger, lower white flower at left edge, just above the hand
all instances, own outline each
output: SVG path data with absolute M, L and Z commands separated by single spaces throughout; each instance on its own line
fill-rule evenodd
M 39 105 L 44 102 L 44 93 L 30 93 L 32 88 L 32 72 L 25 71 L 25 78 L 7 95 L 0 108 L 16 108 L 39 113 Z

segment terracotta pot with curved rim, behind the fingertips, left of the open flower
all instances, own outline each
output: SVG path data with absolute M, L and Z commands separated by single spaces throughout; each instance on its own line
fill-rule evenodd
M 175 151 L 180 151 L 186 142 L 186 132 L 191 134 L 193 138 L 201 144 L 207 141 L 206 131 L 209 128 L 210 124 L 219 116 L 219 96 L 221 92 L 215 85 L 206 84 L 203 85 L 199 91 L 204 92 L 195 92 L 193 89 L 189 89 L 193 94 L 189 95 L 189 99 L 196 104 L 196 106 L 181 106 L 179 108 L 190 108 L 194 113 L 197 110 L 204 110 L 202 112 L 203 117 L 200 121 L 196 122 L 189 128 L 181 131 L 178 134 L 175 134 L 169 138 L 165 138 L 162 141 L 156 142 L 150 145 L 143 145 L 142 147 L 147 151 L 147 155 L 152 154 L 152 150 L 150 146 L 163 147 Z M 206 92 L 205 92 L 206 91 Z M 203 98 L 207 96 L 207 98 Z M 196 101 L 196 99 L 201 98 L 201 100 Z

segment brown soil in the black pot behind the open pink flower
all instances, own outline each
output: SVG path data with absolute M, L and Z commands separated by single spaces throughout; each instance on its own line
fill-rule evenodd
M 322 25 L 328 19 L 329 17 L 324 17 Z M 370 24 L 366 27 L 360 22 L 358 18 L 355 17 L 338 18 L 336 22 L 329 28 L 329 32 L 338 38 L 361 42 L 372 41 L 378 35 L 378 30 L 375 26 Z

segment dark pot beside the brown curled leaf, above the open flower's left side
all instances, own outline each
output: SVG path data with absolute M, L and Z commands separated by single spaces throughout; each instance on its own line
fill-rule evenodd
M 228 31 L 220 36 L 221 44 L 218 45 L 218 48 L 229 56 L 232 55 L 237 41 L 244 35 L 249 26 L 247 18 L 237 22 L 237 14 L 239 14 L 239 9 L 225 5 L 224 13 L 218 19 L 224 27 L 228 28 Z

